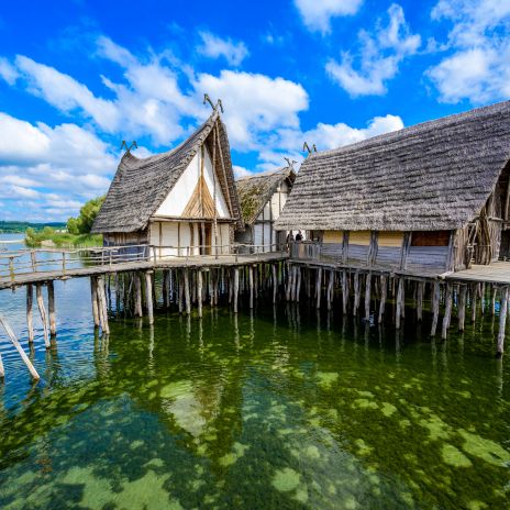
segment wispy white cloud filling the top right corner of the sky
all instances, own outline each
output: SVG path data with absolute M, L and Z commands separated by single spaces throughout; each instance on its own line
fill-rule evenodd
M 452 23 L 447 55 L 426 75 L 445 102 L 510 97 L 510 0 L 441 0 L 435 21 Z

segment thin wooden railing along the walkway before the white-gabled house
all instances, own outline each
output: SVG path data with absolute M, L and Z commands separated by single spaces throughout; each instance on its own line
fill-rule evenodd
M 117 264 L 158 263 L 169 259 L 190 259 L 200 257 L 225 258 L 237 262 L 242 257 L 259 257 L 277 253 L 277 245 L 196 245 L 196 246 L 153 246 L 148 244 L 87 247 L 76 250 L 20 250 L 0 254 L 0 280 L 15 284 L 23 276 L 34 273 L 57 273 L 66 276 L 73 269 L 102 267 Z

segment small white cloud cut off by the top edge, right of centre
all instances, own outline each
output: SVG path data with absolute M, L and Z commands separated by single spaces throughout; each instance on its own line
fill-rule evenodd
M 331 31 L 331 19 L 355 14 L 363 0 L 295 0 L 304 25 L 313 32 Z

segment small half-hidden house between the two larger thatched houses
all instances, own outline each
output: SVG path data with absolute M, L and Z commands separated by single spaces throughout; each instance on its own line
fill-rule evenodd
M 236 181 L 245 229 L 235 234 L 240 244 L 264 246 L 259 251 L 280 250 L 286 232 L 275 230 L 287 197 L 292 189 L 296 173 L 286 167 L 278 171 L 245 177 Z

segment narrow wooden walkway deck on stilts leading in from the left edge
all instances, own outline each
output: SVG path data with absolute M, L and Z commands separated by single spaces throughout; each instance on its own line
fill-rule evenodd
M 0 277 L 0 290 L 15 288 L 27 284 L 37 284 L 54 280 L 67 280 L 70 278 L 107 275 L 112 273 L 125 273 L 135 270 L 151 269 L 171 269 L 179 267 L 188 268 L 217 268 L 217 267 L 235 267 L 251 264 L 274 263 L 286 260 L 286 252 L 258 253 L 250 255 L 197 255 L 189 257 L 167 257 L 158 259 L 140 259 L 126 263 L 117 262 L 113 264 L 98 264 L 85 267 L 67 268 L 65 270 L 35 270 L 31 273 L 16 273 L 15 278 Z M 44 263 L 43 263 L 44 264 Z

